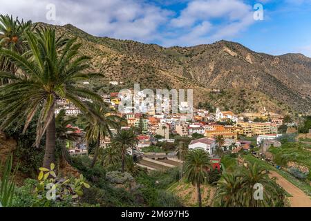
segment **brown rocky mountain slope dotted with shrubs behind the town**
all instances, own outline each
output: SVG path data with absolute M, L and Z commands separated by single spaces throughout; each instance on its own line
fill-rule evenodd
M 78 37 L 81 52 L 93 57 L 91 71 L 103 75 L 92 84 L 97 89 L 109 81 L 124 81 L 123 88 L 134 83 L 141 88 L 193 88 L 194 104 L 208 102 L 236 112 L 311 111 L 311 59 L 300 54 L 266 55 L 229 41 L 163 48 L 93 37 L 71 25 L 53 27 L 58 35 Z

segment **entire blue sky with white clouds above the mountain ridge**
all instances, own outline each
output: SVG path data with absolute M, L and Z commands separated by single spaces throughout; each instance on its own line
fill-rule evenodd
M 46 18 L 49 3 L 55 19 Z M 263 21 L 254 5 L 263 5 Z M 1 0 L 0 13 L 161 46 L 225 39 L 257 52 L 311 57 L 311 0 Z

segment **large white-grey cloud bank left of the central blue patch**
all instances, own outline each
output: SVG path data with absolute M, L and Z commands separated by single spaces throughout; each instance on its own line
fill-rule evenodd
M 56 6 L 56 21 L 46 20 L 46 6 Z M 74 26 L 92 35 L 152 41 L 169 11 L 135 0 L 2 0 L 0 13 L 32 21 Z

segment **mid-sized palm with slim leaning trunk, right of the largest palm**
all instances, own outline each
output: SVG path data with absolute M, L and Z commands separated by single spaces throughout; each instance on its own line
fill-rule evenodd
M 91 168 L 94 167 L 95 162 L 97 160 L 98 151 L 100 150 L 100 142 L 101 140 L 105 140 L 106 137 L 113 137 L 111 129 L 119 128 L 120 117 L 113 115 L 115 112 L 106 104 L 88 104 L 88 106 L 99 115 L 99 117 L 94 117 L 93 115 L 82 115 L 82 122 L 86 122 L 86 127 L 84 131 L 86 135 L 84 139 L 86 142 L 96 142 L 95 153 L 93 155 L 93 161 L 91 163 Z M 83 119 L 84 118 L 84 119 Z

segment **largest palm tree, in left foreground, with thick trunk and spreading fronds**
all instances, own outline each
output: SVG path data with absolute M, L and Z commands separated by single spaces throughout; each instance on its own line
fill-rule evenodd
M 101 97 L 76 83 L 98 75 L 85 73 L 89 57 L 78 55 L 81 44 L 76 44 L 76 39 L 57 39 L 55 30 L 50 28 L 36 29 L 35 33 L 26 31 L 26 39 L 30 48 L 27 55 L 0 49 L 0 55 L 10 59 L 23 73 L 0 72 L 0 78 L 11 80 L 9 84 L 0 86 L 0 118 L 4 119 L 0 128 L 10 126 L 13 119 L 26 119 L 25 132 L 39 111 L 35 145 L 39 146 L 41 137 L 46 133 L 43 166 L 50 168 L 50 164 L 55 163 L 56 100 L 68 99 L 83 113 L 95 116 L 81 98 L 102 102 Z

